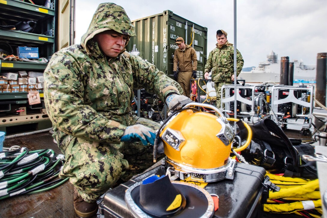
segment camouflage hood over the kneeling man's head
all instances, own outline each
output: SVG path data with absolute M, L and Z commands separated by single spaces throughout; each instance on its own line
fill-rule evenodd
M 114 3 L 101 3 L 93 15 L 89 28 L 81 39 L 81 45 L 86 52 L 90 53 L 90 48 L 87 45 L 90 39 L 96 34 L 110 29 L 121 34 L 135 36 L 135 28 L 121 6 Z M 125 46 L 128 41 L 126 41 Z

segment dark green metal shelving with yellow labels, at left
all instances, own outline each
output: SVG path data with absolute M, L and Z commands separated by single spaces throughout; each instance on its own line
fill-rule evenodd
M 38 47 L 39 57 L 49 57 L 56 48 L 56 5 L 58 0 L 51 0 L 50 8 L 43 6 L 45 0 L 33 0 L 35 4 L 21 0 L 0 0 L 0 21 L 7 25 L 15 25 L 20 21 L 35 21 L 32 32 L 0 29 L 0 40 L 7 42 L 14 50 L 17 46 Z M 0 60 L 1 72 L 38 71 L 43 72 L 47 64 L 3 61 Z M 41 104 L 29 105 L 27 92 L 0 94 L 0 130 L 11 132 L 15 125 L 26 126 L 30 131 L 42 126 L 51 126 L 40 93 Z M 17 111 L 23 111 L 17 113 Z M 48 122 L 44 124 L 44 122 Z M 8 128 L 7 128 L 8 127 Z M 10 128 L 9 128 L 10 127 Z M 9 133 L 10 134 L 10 133 Z

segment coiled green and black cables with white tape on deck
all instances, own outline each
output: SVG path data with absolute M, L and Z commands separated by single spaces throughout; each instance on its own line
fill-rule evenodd
M 22 148 L 0 154 L 0 200 L 48 191 L 69 179 L 59 178 L 64 156 L 56 155 L 51 149 Z

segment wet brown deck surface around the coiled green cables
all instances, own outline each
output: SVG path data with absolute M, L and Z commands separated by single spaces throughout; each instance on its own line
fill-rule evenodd
M 19 145 L 29 150 L 52 149 L 61 154 L 50 133 L 9 138 L 4 147 Z M 78 217 L 73 207 L 74 187 L 69 182 L 39 194 L 20 195 L 0 201 L 0 217 Z M 96 216 L 95 216 L 96 217 Z

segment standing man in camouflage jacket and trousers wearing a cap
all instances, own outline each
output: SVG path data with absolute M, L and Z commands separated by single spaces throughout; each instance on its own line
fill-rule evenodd
M 216 48 L 209 53 L 207 63 L 204 66 L 204 78 L 208 79 L 211 70 L 212 81 L 215 82 L 216 106 L 220 108 L 221 87 L 232 84 L 234 81 L 234 46 L 227 41 L 227 32 L 222 29 L 217 30 L 216 38 Z M 237 49 L 236 51 L 236 75 L 238 76 L 244 61 L 241 53 Z

